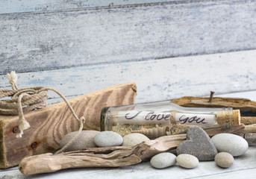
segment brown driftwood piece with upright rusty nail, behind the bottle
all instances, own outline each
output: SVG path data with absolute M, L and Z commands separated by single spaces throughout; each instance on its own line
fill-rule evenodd
M 233 107 L 235 110 L 240 110 L 241 116 L 256 116 L 256 101 L 251 101 L 246 98 L 221 97 L 213 97 L 211 102 L 208 101 L 209 98 L 196 98 L 192 96 L 184 96 L 172 100 L 173 103 L 183 107 Z M 256 118 L 253 120 L 255 122 Z

